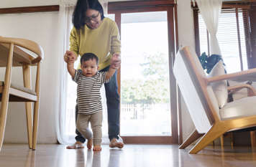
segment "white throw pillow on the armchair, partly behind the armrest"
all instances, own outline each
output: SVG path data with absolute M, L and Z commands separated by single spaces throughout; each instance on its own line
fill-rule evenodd
M 220 60 L 214 65 L 214 68 L 211 70 L 209 77 L 219 76 L 225 74 L 225 68 L 223 62 Z M 212 82 L 211 87 L 214 90 L 214 94 L 219 103 L 219 108 L 223 108 L 225 104 L 227 104 L 227 80 L 222 80 L 219 82 Z

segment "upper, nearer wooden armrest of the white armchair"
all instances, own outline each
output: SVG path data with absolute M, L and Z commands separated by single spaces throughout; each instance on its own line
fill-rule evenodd
M 247 81 L 247 80 L 256 81 L 256 68 L 245 70 L 242 72 L 234 72 L 226 75 L 219 75 L 215 77 L 206 78 L 206 82 L 208 83 L 217 82 L 221 80 L 234 80 L 238 82 Z

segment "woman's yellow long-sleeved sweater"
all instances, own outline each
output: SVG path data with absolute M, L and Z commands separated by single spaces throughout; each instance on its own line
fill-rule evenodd
M 99 70 L 110 65 L 111 56 L 121 53 L 121 42 L 116 22 L 105 17 L 97 29 L 73 29 L 70 32 L 70 50 L 82 56 L 91 52 L 99 57 Z M 80 69 L 80 63 L 78 69 Z

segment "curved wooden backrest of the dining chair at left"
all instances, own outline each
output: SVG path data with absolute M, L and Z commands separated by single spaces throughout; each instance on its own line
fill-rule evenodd
M 22 63 L 32 65 L 37 62 L 40 62 L 40 60 L 44 57 L 42 47 L 40 47 L 40 45 L 36 42 L 30 41 L 28 39 L 9 38 L 0 36 L 0 51 L 3 55 L 5 52 L 9 52 L 9 44 L 14 44 L 15 52 L 13 66 L 22 66 Z M 19 52 L 19 54 L 16 54 L 17 52 Z M 27 54 L 26 52 L 29 52 L 29 54 Z M 31 54 L 31 52 L 35 53 L 36 55 Z M 1 58 L 4 59 L 4 57 Z M 0 66 L 2 67 L 4 65 L 0 64 Z

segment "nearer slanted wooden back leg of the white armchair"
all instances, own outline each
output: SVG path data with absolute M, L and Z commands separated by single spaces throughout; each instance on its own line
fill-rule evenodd
M 216 123 L 211 127 L 211 129 L 196 143 L 189 153 L 198 153 L 203 148 L 206 147 L 209 143 L 211 143 L 216 138 L 219 138 L 220 135 L 223 135 L 227 132 L 227 129 L 224 127 L 222 123 Z

